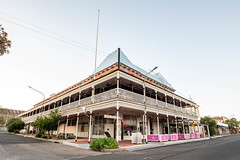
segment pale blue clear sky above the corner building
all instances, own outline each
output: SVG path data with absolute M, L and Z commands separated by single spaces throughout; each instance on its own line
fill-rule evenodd
M 240 120 L 240 1 L 0 0 L 12 41 L 0 56 L 0 106 L 28 110 L 94 71 L 117 48 L 160 72 L 200 115 Z

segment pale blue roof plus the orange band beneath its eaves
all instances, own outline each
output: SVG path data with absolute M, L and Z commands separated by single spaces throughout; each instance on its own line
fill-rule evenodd
M 160 88 L 167 90 L 169 92 L 174 92 L 175 89 L 167 82 L 167 80 L 160 74 L 148 74 L 145 76 L 148 72 L 141 69 L 140 67 L 134 65 L 127 57 L 126 55 L 121 51 L 120 48 L 110 53 L 103 61 L 102 63 L 97 67 L 95 72 L 95 79 L 99 79 L 106 74 L 109 74 L 115 70 L 123 70 L 125 72 L 128 72 L 129 74 L 140 78 L 145 79 L 146 82 L 152 83 L 154 85 L 159 86 Z M 88 78 L 82 80 L 79 83 L 76 83 L 72 85 L 71 87 L 68 87 L 67 89 L 64 89 L 63 91 L 47 98 L 44 103 L 47 103 L 48 101 L 51 101 L 52 99 L 55 99 L 59 96 L 62 96 L 68 92 L 71 92 L 75 90 L 76 88 L 79 88 L 83 85 L 89 84 L 92 81 L 94 81 L 94 73 L 90 75 Z M 43 102 L 39 102 L 34 105 L 35 107 L 38 107 L 39 105 L 43 104 Z

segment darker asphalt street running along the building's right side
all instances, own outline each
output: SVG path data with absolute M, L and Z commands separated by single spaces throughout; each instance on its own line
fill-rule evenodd
M 121 152 L 87 160 L 240 160 L 240 135 L 178 144 L 137 152 Z

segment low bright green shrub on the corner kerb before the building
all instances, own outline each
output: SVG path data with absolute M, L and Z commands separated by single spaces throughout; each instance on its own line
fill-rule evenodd
M 92 141 L 90 148 L 94 151 L 101 151 L 102 149 L 119 148 L 118 142 L 114 138 L 97 138 Z

